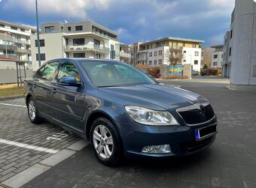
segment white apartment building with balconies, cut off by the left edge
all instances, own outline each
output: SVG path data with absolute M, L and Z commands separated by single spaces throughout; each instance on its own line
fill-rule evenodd
M 30 35 L 35 32 L 35 28 L 0 20 L 0 58 L 32 61 Z

